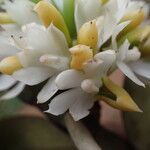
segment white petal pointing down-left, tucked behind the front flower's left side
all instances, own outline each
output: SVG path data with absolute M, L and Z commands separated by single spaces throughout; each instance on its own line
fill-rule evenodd
M 37 103 L 45 103 L 57 93 L 58 88 L 55 84 L 55 78 L 56 76 L 53 76 L 39 92 L 37 96 Z

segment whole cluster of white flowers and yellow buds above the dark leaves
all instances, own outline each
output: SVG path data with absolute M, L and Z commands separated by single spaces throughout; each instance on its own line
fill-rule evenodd
M 144 2 L 5 0 L 2 7 L 6 12 L 0 13 L 0 71 L 5 75 L 0 77 L 0 90 L 16 83 L 17 87 L 1 99 L 10 98 L 10 92 L 16 96 L 25 85 L 48 80 L 37 96 L 38 103 L 53 98 L 48 113 L 69 110 L 77 121 L 89 114 L 97 100 L 141 112 L 108 76 L 119 68 L 134 83 L 145 86 L 134 74 L 139 70 L 134 63 L 149 45 L 150 26 L 142 23 L 149 13 Z

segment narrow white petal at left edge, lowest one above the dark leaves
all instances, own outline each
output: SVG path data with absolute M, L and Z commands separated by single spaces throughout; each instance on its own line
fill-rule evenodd
M 11 98 L 15 98 L 23 91 L 24 88 L 25 88 L 25 84 L 18 83 L 14 88 L 6 92 L 6 94 L 2 95 L 0 97 L 0 100 L 8 100 Z

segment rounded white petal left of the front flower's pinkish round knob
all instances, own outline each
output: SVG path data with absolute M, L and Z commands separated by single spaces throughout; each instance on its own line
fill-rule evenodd
M 65 90 L 79 87 L 84 79 L 85 75 L 82 72 L 70 69 L 60 73 L 55 82 L 58 89 Z

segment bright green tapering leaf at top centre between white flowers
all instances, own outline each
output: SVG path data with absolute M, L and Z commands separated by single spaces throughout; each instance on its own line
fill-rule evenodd
M 71 37 L 76 36 L 76 27 L 74 21 L 74 0 L 52 0 L 57 9 L 61 12 L 69 29 Z

